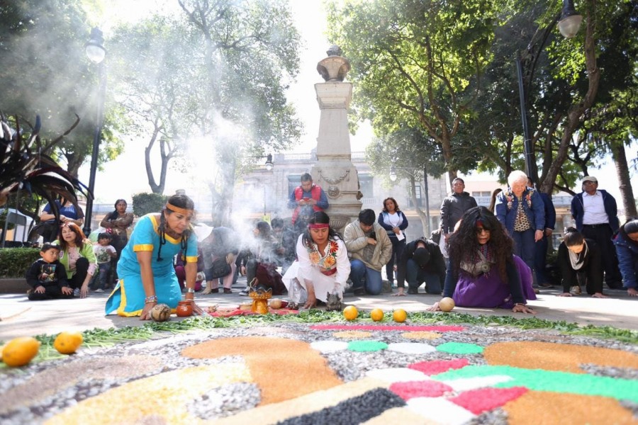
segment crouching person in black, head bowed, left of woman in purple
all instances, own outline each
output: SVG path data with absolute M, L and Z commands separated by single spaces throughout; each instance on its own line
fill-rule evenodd
M 445 282 L 445 261 L 441 249 L 434 242 L 422 237 L 405 246 L 396 271 L 398 293 L 403 296 L 405 280 L 408 280 L 408 294 L 418 293 L 419 286 L 425 282 L 425 292 L 440 294 Z

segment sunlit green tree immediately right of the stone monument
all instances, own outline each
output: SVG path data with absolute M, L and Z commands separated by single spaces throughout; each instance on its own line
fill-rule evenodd
M 352 64 L 353 105 L 378 135 L 422 128 L 450 179 L 476 158 L 458 137 L 490 60 L 498 2 L 345 1 L 328 13 L 330 38 Z M 473 87 L 470 87 L 474 81 Z

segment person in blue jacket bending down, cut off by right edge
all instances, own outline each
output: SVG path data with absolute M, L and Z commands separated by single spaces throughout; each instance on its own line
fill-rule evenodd
M 638 218 L 632 217 L 620 226 L 613 238 L 622 286 L 630 297 L 638 297 Z

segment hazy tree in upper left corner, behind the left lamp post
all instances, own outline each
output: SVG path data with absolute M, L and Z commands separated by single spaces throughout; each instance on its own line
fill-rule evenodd
M 43 120 L 43 139 L 55 137 L 76 120 L 77 128 L 45 154 L 62 155 L 77 176 L 91 154 L 96 111 L 96 73 L 89 69 L 84 42 L 87 16 L 79 0 L 24 0 L 0 5 L 0 110 L 33 121 Z M 121 143 L 107 115 L 100 159 L 115 157 Z

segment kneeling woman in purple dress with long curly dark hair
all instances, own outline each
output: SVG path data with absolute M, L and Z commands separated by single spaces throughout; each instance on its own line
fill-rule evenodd
M 536 299 L 532 271 L 513 251 L 513 240 L 490 210 L 467 210 L 449 238 L 443 296 L 452 297 L 459 307 L 511 308 L 535 314 L 526 305 L 527 300 Z M 439 303 L 428 310 L 440 310 Z

